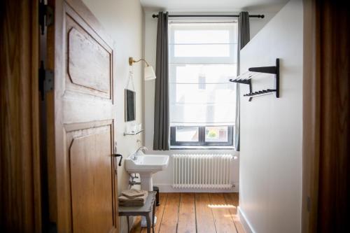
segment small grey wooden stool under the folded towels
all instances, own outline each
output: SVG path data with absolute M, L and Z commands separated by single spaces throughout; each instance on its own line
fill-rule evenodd
M 151 233 L 152 215 L 152 232 L 154 233 L 155 194 L 155 191 L 148 192 L 144 206 L 119 206 L 119 216 L 127 217 L 127 232 L 130 232 L 129 216 L 145 216 L 147 222 L 147 233 Z

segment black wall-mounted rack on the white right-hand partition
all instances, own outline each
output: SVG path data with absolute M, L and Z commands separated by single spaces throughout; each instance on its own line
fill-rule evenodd
M 251 83 L 251 79 L 254 78 L 256 75 L 254 73 L 272 73 L 274 74 L 275 78 L 275 88 L 274 89 L 266 89 L 266 90 L 259 90 L 256 92 L 253 92 L 253 87 Z M 249 85 L 249 93 L 244 94 L 244 97 L 250 97 L 249 101 L 253 97 L 258 97 L 260 95 L 264 94 L 272 94 L 276 93 L 276 98 L 279 98 L 279 58 L 276 58 L 276 66 L 262 66 L 262 67 L 251 67 L 248 69 L 248 72 L 241 74 L 235 79 L 230 79 L 230 82 L 232 83 L 242 83 Z

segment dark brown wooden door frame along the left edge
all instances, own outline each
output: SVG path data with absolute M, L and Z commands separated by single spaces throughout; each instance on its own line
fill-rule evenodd
M 38 1 L 0 5 L 0 230 L 41 232 Z

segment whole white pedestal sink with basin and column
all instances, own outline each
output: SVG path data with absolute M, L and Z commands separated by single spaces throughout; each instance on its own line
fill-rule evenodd
M 153 191 L 152 176 L 158 171 L 168 167 L 169 155 L 145 155 L 139 151 L 137 159 L 134 155 L 125 159 L 125 169 L 129 174 L 139 174 L 141 178 L 141 190 Z M 157 218 L 155 217 L 155 223 Z M 146 218 L 142 218 L 141 226 L 146 227 Z

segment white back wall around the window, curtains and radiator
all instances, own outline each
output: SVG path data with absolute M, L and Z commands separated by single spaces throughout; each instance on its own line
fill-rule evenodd
M 157 14 L 158 11 L 154 9 L 146 9 L 144 13 L 144 29 L 145 29 L 145 49 L 144 55 L 146 60 L 155 69 L 155 51 L 157 40 L 157 19 L 153 18 L 153 14 Z M 258 31 L 276 14 L 276 12 L 262 12 L 254 11 L 251 14 L 265 14 L 264 19 L 251 18 L 251 38 L 258 33 Z M 239 153 L 234 150 L 169 150 L 169 151 L 153 151 L 153 120 L 154 120 L 154 93 L 155 93 L 155 80 L 145 83 L 145 146 L 149 149 L 148 154 L 165 154 L 174 155 L 175 153 L 230 153 L 237 155 L 238 159 L 232 162 L 232 174 L 231 181 L 235 185 L 228 191 L 238 192 L 239 190 Z M 190 190 L 172 189 L 172 159 L 169 162 L 167 170 L 155 174 L 153 177 L 154 185 L 158 185 L 162 192 L 180 192 Z M 193 192 L 194 190 L 192 190 Z M 202 190 L 202 191 L 217 191 L 222 190 Z

